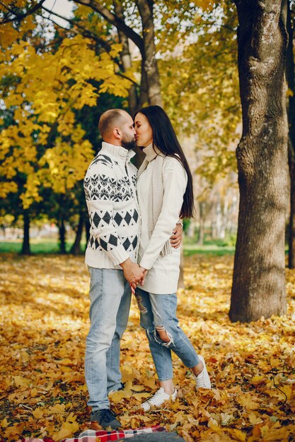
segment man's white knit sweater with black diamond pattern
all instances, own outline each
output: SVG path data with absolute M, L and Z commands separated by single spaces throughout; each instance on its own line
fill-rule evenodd
M 120 269 L 127 258 L 137 259 L 137 168 L 130 162 L 134 155 L 132 150 L 103 142 L 86 172 L 84 190 L 91 227 L 85 262 L 91 267 Z

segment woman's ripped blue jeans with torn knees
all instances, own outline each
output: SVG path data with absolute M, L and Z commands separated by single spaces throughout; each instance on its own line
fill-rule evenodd
M 173 378 L 171 350 L 187 368 L 191 369 L 199 364 L 194 347 L 178 325 L 176 294 L 153 294 L 137 288 L 135 297 L 140 311 L 140 325 L 146 330 L 149 339 L 158 380 L 167 381 Z M 160 338 L 157 329 L 160 332 L 166 331 L 168 342 Z

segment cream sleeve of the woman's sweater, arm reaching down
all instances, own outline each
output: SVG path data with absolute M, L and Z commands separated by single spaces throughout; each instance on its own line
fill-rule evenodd
M 171 236 L 183 205 L 183 195 L 187 186 L 187 174 L 178 160 L 170 157 L 163 165 L 163 203 L 154 232 L 142 256 L 141 267 L 153 267 L 163 245 Z

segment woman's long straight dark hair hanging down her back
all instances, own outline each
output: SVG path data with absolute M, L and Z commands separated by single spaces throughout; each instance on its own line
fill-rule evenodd
M 181 148 L 171 121 L 166 112 L 160 106 L 141 107 L 134 114 L 143 114 L 148 119 L 153 131 L 153 147 L 168 157 L 175 157 L 184 167 L 187 173 L 187 187 L 183 196 L 183 206 L 180 210 L 180 218 L 191 218 L 194 214 L 194 193 L 192 190 L 192 174 L 187 164 L 185 154 Z

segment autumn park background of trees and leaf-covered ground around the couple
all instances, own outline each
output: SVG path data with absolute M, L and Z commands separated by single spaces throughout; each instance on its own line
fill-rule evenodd
M 178 314 L 214 388 L 196 395 L 175 359 L 178 400 L 140 412 L 156 385 L 133 303 L 114 406 L 187 442 L 295 439 L 294 2 L 244 5 L 0 2 L 5 440 L 87 428 L 83 177 L 100 114 L 144 104 L 166 110 L 194 176 Z

